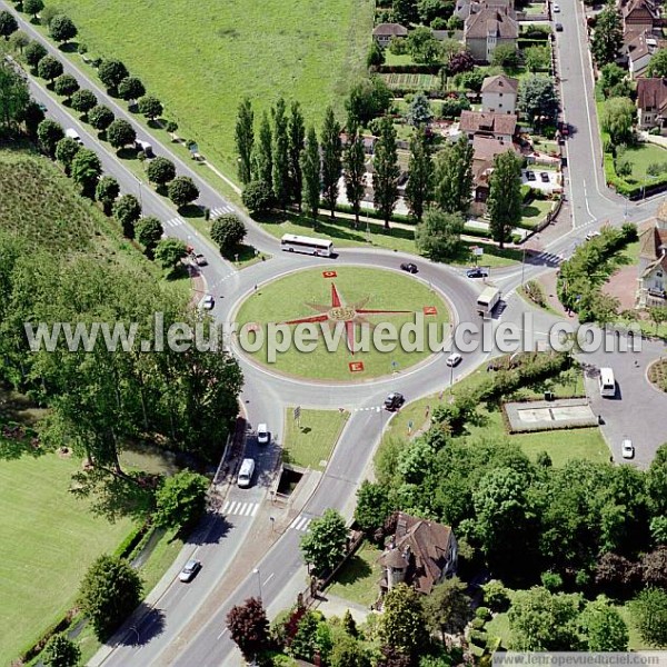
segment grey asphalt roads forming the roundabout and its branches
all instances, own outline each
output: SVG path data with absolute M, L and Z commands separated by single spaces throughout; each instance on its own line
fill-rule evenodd
M 0 7 L 13 12 L 13 8 L 1 0 Z M 567 142 L 568 193 L 573 210 L 573 228 L 561 238 L 550 242 L 542 256 L 529 259 L 522 269 L 515 267 L 494 272 L 494 281 L 499 285 L 507 298 L 507 308 L 501 317 L 504 322 L 519 322 L 526 310 L 522 301 L 512 296 L 522 278 L 528 280 L 545 268 L 555 266 L 560 257 L 569 256 L 576 245 L 583 241 L 586 232 L 604 221 L 619 223 L 624 219 L 641 220 L 653 215 L 656 207 L 655 201 L 647 201 L 630 205 L 626 210 L 625 202 L 604 186 L 581 8 L 575 0 L 563 0 L 561 7 L 563 13 L 559 20 L 564 23 L 565 31 L 558 33 L 557 44 L 563 78 L 563 99 L 566 107 L 565 119 L 575 130 Z M 66 71 L 73 73 L 82 88 L 93 90 L 99 101 L 111 108 L 117 118 L 127 119 L 135 126 L 140 139 L 152 143 L 156 155 L 168 157 L 177 165 L 180 175 L 190 176 L 195 180 L 201 192 L 199 205 L 211 209 L 235 209 L 199 176 L 192 165 L 173 155 L 168 145 L 161 145 L 155 138 L 148 137 L 121 103 L 109 98 L 83 70 L 66 60 L 62 53 L 43 40 L 33 27 L 23 20 L 22 16 L 14 16 L 18 17 L 22 30 L 32 39 L 42 41 L 52 54 L 59 57 Z M 31 81 L 31 88 L 34 98 L 48 107 L 52 118 L 63 127 L 74 128 L 84 145 L 97 150 L 106 173 L 118 179 L 122 191 L 141 198 L 146 215 L 155 215 L 165 222 L 178 218 L 170 205 L 155 193 L 148 185 L 140 186 L 135 175 L 118 160 L 116 155 L 106 150 L 97 141 L 87 126 L 72 117 L 69 110 L 54 102 L 41 82 Z M 404 260 L 400 253 L 367 249 L 341 250 L 335 260 L 287 256 L 280 253 L 278 241 L 273 237 L 255 225 L 243 211 L 237 212 L 247 223 L 248 241 L 256 248 L 275 256 L 269 261 L 259 262 L 242 271 L 237 271 L 233 266 L 223 261 L 216 249 L 201 238 L 187 220 L 179 221 L 178 225 L 166 225 L 169 235 L 186 240 L 207 255 L 209 266 L 203 268 L 202 273 L 207 280 L 208 292 L 216 296 L 212 313 L 222 321 L 231 317 L 238 302 L 251 293 L 255 286 L 261 286 L 276 276 L 300 267 L 327 268 L 335 262 L 345 262 L 398 270 L 398 265 Z M 460 270 L 431 265 L 421 259 L 417 260 L 417 263 L 420 271 L 416 278 L 430 283 L 448 299 L 458 321 L 478 321 L 474 309 L 476 295 L 481 289 L 478 281 L 465 279 Z M 539 312 L 536 318 L 536 338 L 539 339 L 550 322 L 550 316 Z M 498 323 L 496 320 L 494 326 L 497 327 Z M 462 364 L 456 369 L 455 380 L 476 368 L 492 352 L 477 351 L 465 355 Z M 350 499 L 354 498 L 375 445 L 389 419 L 387 412 L 378 409 L 388 391 L 399 390 L 411 400 L 440 390 L 449 378 L 449 369 L 445 366 L 441 356 L 435 356 L 418 368 L 406 370 L 398 376 L 355 385 L 300 382 L 267 372 L 266 369 L 250 364 L 243 357 L 239 360 L 246 376 L 242 400 L 249 422 L 251 426 L 257 426 L 258 422 L 266 421 L 273 432 L 276 445 L 280 444 L 286 406 L 344 407 L 351 410 L 351 417 L 326 474 L 303 508 L 302 514 L 307 517 L 319 516 L 327 507 L 349 509 Z M 628 372 L 633 368 L 634 365 L 628 368 Z M 623 401 L 633 396 L 641 401 L 646 388 L 639 384 L 631 385 L 631 375 L 626 378 L 625 367 L 623 369 L 619 367 L 619 379 L 623 381 L 623 387 L 627 387 Z M 628 409 L 628 406 L 620 406 L 618 411 L 620 415 L 634 412 Z M 609 415 L 611 421 L 611 411 Z M 615 437 L 615 434 L 610 434 L 611 439 Z M 267 480 L 262 474 L 271 467 L 276 451 L 275 449 L 260 450 L 252 439 L 249 441 L 249 451 L 256 452 L 260 459 L 258 484 L 247 490 L 233 489 L 227 499 L 225 516 L 215 517 L 190 540 L 189 555 L 195 554 L 202 560 L 201 573 L 188 586 L 178 581 L 168 586 L 155 609 L 136 627 L 122 634 L 115 650 L 100 654 L 96 664 L 100 664 L 101 660 L 104 665 L 129 665 L 130 667 L 168 664 L 183 666 L 239 664 L 236 647 L 225 633 L 225 616 L 233 604 L 242 601 L 250 595 L 257 595 L 257 577 L 252 575 L 239 581 L 233 595 L 207 615 L 203 621 L 201 614 L 202 610 L 208 609 L 206 603 L 219 587 L 233 558 L 242 558 L 245 540 L 252 539 L 256 507 L 266 496 Z M 638 454 L 638 460 L 644 460 L 644 456 L 649 456 L 648 449 L 646 454 Z M 288 529 L 258 564 L 262 599 L 270 614 L 288 606 L 305 586 L 306 569 L 299 556 L 298 538 L 297 529 Z

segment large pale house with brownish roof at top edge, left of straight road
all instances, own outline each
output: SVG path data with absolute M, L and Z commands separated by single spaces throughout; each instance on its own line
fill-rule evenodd
M 495 6 L 485 1 L 479 11 L 470 13 L 464 24 L 464 43 L 478 62 L 489 62 L 496 47 L 516 48 L 519 23 L 509 6 Z

